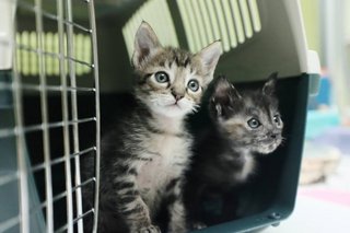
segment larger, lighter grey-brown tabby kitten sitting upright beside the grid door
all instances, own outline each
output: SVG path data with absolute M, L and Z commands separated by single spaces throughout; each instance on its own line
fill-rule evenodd
M 98 232 L 160 232 L 154 218 L 163 203 L 167 232 L 186 231 L 182 186 L 192 139 L 185 118 L 199 106 L 220 55 L 219 42 L 196 55 L 162 47 L 141 23 L 136 107 L 102 139 Z

